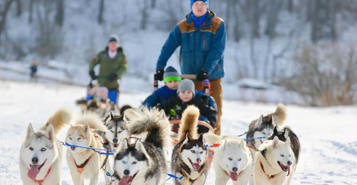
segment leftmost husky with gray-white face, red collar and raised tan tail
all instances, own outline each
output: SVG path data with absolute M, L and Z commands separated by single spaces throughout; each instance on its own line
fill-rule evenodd
M 24 185 L 60 185 L 62 171 L 62 146 L 56 134 L 69 125 L 72 114 L 58 110 L 46 125 L 34 132 L 31 123 L 20 151 L 20 174 Z

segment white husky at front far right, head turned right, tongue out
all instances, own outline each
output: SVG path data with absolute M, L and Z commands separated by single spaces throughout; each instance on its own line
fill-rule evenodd
M 290 148 L 290 137 L 282 142 L 277 136 L 265 141 L 256 155 L 254 179 L 257 185 L 283 185 L 290 175 L 290 168 L 295 159 Z

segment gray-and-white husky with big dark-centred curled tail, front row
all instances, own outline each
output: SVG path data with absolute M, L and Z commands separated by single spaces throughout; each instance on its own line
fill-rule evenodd
M 144 141 L 124 139 L 114 158 L 115 176 L 119 185 L 165 184 L 166 159 L 163 150 L 171 146 L 171 126 L 164 111 L 144 108 L 134 112 L 127 125 L 128 133 L 147 133 Z

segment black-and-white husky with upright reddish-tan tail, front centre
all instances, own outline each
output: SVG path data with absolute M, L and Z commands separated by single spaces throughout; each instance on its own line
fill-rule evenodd
M 182 180 L 175 179 L 175 184 L 205 184 L 208 172 L 207 148 L 203 144 L 203 135 L 197 134 L 197 122 L 200 110 L 190 105 L 182 113 L 178 128 L 178 141 L 172 151 L 171 172 Z

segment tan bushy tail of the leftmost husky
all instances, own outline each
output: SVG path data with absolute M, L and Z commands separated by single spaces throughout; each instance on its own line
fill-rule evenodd
M 42 130 L 46 130 L 47 126 L 52 124 L 52 127 L 55 131 L 55 135 L 61 131 L 63 127 L 70 124 L 73 115 L 72 112 L 68 109 L 59 109 L 54 115 L 52 115 L 46 122 L 46 125 L 41 127 Z

